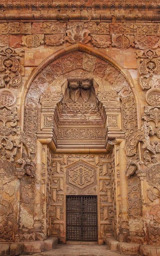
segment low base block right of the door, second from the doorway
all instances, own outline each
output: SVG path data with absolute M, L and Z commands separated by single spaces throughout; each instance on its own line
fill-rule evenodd
M 125 242 L 119 242 L 118 244 L 118 251 L 121 254 L 137 255 L 139 254 L 139 248 L 140 248 L 140 245 L 138 244 L 130 244 Z

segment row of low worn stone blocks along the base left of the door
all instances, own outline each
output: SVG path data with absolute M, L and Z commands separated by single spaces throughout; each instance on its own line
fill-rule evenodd
M 40 253 L 55 248 L 57 244 L 57 237 L 49 237 L 44 241 L 2 242 L 0 243 L 0 255 Z

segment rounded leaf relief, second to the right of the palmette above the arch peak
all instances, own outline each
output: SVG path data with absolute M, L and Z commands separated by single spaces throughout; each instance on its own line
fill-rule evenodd
M 126 34 L 112 34 L 112 46 L 123 50 L 130 46 L 134 47 L 134 36 Z

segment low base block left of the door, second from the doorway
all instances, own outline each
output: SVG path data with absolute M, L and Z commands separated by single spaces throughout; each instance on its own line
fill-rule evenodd
M 44 241 L 30 241 L 23 243 L 23 252 L 38 253 L 45 250 Z

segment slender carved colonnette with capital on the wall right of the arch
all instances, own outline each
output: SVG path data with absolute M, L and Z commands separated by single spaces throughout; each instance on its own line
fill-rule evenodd
M 146 204 L 147 197 L 146 197 L 146 170 L 144 163 L 142 161 L 137 162 L 138 170 L 136 171 L 137 176 L 140 179 L 140 185 L 141 185 L 141 199 L 142 203 Z

